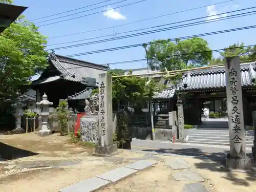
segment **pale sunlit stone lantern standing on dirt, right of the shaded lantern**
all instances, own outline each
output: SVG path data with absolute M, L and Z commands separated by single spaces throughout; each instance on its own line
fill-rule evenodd
M 38 132 L 39 136 L 47 136 L 51 135 L 51 130 L 48 129 L 48 116 L 49 116 L 49 106 L 53 104 L 53 102 L 50 102 L 47 100 L 47 95 L 42 96 L 42 100 L 40 102 L 36 103 L 37 105 L 41 106 L 41 120 L 42 120 L 42 128 Z

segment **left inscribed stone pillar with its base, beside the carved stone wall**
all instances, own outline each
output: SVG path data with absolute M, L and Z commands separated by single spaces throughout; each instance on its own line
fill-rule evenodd
M 109 73 L 99 74 L 99 146 L 96 154 L 109 155 L 117 151 L 113 143 L 114 124 L 112 110 L 112 77 Z

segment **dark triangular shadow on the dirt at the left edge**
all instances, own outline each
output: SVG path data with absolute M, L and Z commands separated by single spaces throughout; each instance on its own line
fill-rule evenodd
M 5 160 L 18 159 L 18 158 L 29 157 L 33 155 L 38 155 L 38 153 L 23 150 L 21 148 L 17 148 L 17 147 L 0 142 L 0 157 Z

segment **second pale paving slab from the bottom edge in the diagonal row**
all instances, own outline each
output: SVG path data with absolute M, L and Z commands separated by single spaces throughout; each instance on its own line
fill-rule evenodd
M 138 172 L 138 170 L 126 168 L 126 167 L 119 167 L 114 170 L 110 170 L 109 172 L 106 172 L 104 174 L 98 175 L 96 177 L 107 180 L 107 181 L 111 181 L 114 183 L 136 172 Z

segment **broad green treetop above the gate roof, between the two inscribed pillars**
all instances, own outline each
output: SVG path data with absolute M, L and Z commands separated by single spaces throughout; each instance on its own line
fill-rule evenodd
M 206 40 L 200 37 L 157 43 L 154 40 L 147 49 L 151 69 L 181 70 L 201 67 L 211 60 L 212 52 Z M 199 53 L 200 52 L 200 53 Z M 195 54 L 192 54 L 195 53 Z

